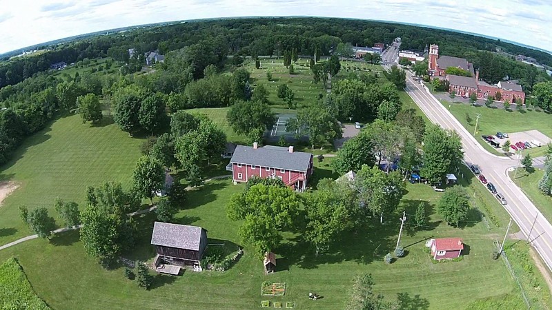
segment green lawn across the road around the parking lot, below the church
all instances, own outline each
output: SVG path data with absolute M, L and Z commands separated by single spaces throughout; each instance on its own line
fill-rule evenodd
M 455 118 L 464 126 L 466 130 L 473 134 L 475 129 L 475 118 L 477 114 L 481 114 L 479 123 L 477 124 L 477 140 L 489 152 L 504 156 L 503 153 L 497 152 L 489 143 L 481 139 L 482 134 L 496 134 L 497 132 L 523 132 L 526 130 L 539 130 L 546 136 L 552 137 L 552 115 L 543 112 L 542 110 L 503 110 L 489 108 L 485 106 L 471 106 L 464 103 L 443 103 Z M 466 122 L 466 114 L 469 114 L 471 123 Z M 531 156 L 542 156 L 546 152 L 544 147 L 533 147 L 532 149 L 524 149 L 522 155 L 531 154 Z

